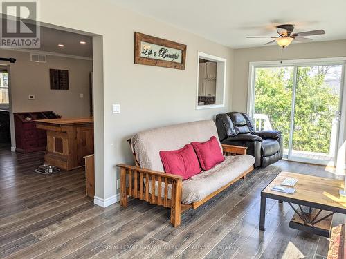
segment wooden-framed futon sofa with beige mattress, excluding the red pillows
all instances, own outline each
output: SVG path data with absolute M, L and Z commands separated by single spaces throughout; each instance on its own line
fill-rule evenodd
M 247 148 L 221 145 L 218 138 L 212 136 L 217 136 L 212 120 L 154 128 L 134 135 L 129 143 L 136 166 L 118 164 L 120 204 L 127 207 L 127 197 L 131 196 L 168 207 L 170 220 L 176 227 L 181 223 L 182 211 L 197 209 L 233 182 L 245 178 L 255 162 L 253 156 L 246 155 Z M 172 151 L 191 142 L 207 142 L 211 137 L 217 141 L 222 162 L 187 180 L 165 173 L 161 151 Z

